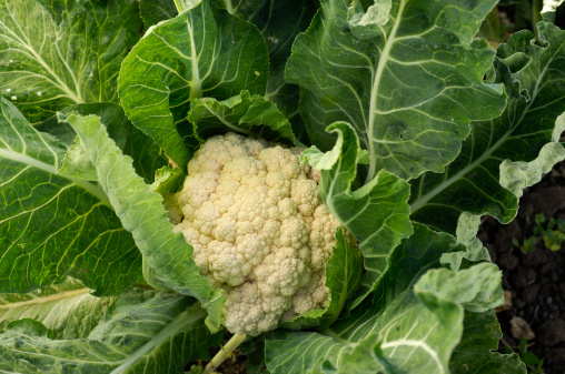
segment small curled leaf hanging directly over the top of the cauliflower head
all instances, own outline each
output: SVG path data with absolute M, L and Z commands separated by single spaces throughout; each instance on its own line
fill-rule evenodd
M 275 142 L 295 143 L 293 128 L 277 107 L 264 97 L 249 91 L 225 101 L 212 98 L 195 99 L 188 112 L 194 125 L 196 151 L 206 139 L 226 133 L 238 132 L 247 137 L 259 137 Z

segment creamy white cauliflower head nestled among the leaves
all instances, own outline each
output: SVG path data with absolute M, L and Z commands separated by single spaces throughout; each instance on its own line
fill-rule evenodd
M 225 290 L 224 324 L 258 335 L 326 306 L 325 264 L 338 221 L 299 149 L 227 133 L 188 163 L 169 218 L 195 249 L 200 273 Z

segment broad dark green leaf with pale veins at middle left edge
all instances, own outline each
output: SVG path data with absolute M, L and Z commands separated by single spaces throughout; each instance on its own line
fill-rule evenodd
M 97 294 L 121 292 L 140 276 L 141 257 L 108 196 L 57 174 L 65 144 L 6 99 L 0 108 L 0 290 L 24 293 L 71 275 Z

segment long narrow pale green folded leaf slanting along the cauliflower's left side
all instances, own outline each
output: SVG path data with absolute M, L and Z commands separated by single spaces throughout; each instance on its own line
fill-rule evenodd
M 174 233 L 161 195 L 136 174 L 131 158 L 123 155 L 108 137 L 100 118 L 59 113 L 59 120 L 69 123 L 82 141 L 100 186 L 156 277 L 181 294 L 195 296 L 205 307 L 221 309 L 221 297 L 209 304 L 216 297 L 212 287 L 199 274 L 192 246 L 182 233 Z M 216 316 L 219 317 L 219 312 Z M 219 325 L 219 319 L 214 323 Z

